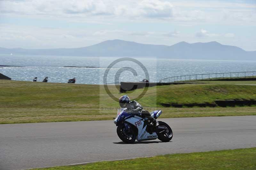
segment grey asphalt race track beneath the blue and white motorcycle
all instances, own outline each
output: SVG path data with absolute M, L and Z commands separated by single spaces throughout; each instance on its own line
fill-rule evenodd
M 171 142 L 124 144 L 113 121 L 0 125 L 0 169 L 256 147 L 256 116 L 159 119 Z

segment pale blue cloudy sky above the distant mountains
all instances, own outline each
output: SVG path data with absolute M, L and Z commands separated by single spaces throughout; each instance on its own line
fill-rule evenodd
M 0 0 L 0 47 L 76 48 L 121 39 L 217 41 L 256 50 L 256 0 Z

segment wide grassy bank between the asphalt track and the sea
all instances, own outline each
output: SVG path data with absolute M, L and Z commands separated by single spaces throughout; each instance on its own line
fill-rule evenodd
M 109 86 L 116 97 L 116 86 Z M 128 91 L 136 98 L 143 89 Z M 161 109 L 161 118 L 256 115 L 255 107 L 164 108 L 161 103 L 212 103 L 215 100 L 256 99 L 256 86 L 183 84 L 151 87 L 139 102 Z M 0 80 L 0 123 L 112 120 L 119 104 L 102 85 Z M 152 107 L 152 108 L 150 108 Z M 103 108 L 101 110 L 100 108 Z

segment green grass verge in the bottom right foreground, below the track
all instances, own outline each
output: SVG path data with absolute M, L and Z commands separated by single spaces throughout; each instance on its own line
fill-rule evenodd
M 172 154 L 151 158 L 135 158 L 121 161 L 105 161 L 76 166 L 58 166 L 35 170 L 86 170 L 86 169 L 207 169 L 252 170 L 256 169 L 256 148 Z

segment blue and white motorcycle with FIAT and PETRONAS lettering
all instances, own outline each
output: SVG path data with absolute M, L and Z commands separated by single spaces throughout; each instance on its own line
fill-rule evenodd
M 153 127 L 153 123 L 147 118 L 141 118 L 138 114 L 125 112 L 127 108 L 120 108 L 114 120 L 116 133 L 124 143 L 134 143 L 137 141 L 159 139 L 162 142 L 169 142 L 172 139 L 171 127 L 158 121 L 158 128 Z M 151 116 L 157 119 L 161 115 L 161 110 L 150 112 Z

